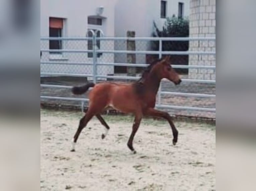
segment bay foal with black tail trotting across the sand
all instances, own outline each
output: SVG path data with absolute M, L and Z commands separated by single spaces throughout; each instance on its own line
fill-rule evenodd
M 75 144 L 79 134 L 93 116 L 96 116 L 102 125 L 105 126 L 106 131 L 102 134 L 102 139 L 106 137 L 110 128 L 100 113 L 109 106 L 124 113 L 134 114 L 132 132 L 127 143 L 127 146 L 133 153 L 136 153 L 133 148 L 133 138 L 143 116 L 163 117 L 166 119 L 171 126 L 173 134 L 172 143 L 175 145 L 178 140 L 178 131 L 170 115 L 167 112 L 154 109 L 156 94 L 163 78 L 168 79 L 175 85 L 181 83 L 179 75 L 170 65 L 170 57 L 151 63 L 143 72 L 141 79 L 135 83 L 118 84 L 104 82 L 96 85 L 94 83 L 88 83 L 81 87 L 73 87 L 72 92 L 77 95 L 84 94 L 91 87 L 93 89 L 89 93 L 90 101 L 88 111 L 80 120 L 71 151 L 75 151 Z

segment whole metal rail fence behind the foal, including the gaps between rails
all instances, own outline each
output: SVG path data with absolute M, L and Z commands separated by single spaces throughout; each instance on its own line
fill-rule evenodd
M 54 41 L 60 44 L 60 49 L 49 49 L 49 44 Z M 135 50 L 127 50 L 128 41 L 135 43 Z M 72 104 L 78 102 L 83 108 L 88 99 L 86 95 L 71 95 L 70 89 L 74 85 L 81 85 L 86 80 L 94 83 L 106 80 L 118 82 L 138 80 L 139 73 L 152 59 L 172 55 L 173 68 L 183 69 L 179 71 L 182 83 L 180 86 L 174 86 L 167 80 L 162 80 L 156 107 L 167 109 L 177 115 L 215 118 L 216 81 L 204 79 L 201 75 L 205 73 L 204 77 L 210 74 L 215 76 L 215 47 L 208 46 L 213 44 L 212 42 L 215 45 L 215 38 L 120 38 L 92 35 L 82 38 L 41 37 L 40 42 L 41 101 L 71 101 Z M 184 46 L 183 50 L 182 47 L 178 47 L 179 45 Z M 136 55 L 135 63 L 127 63 L 129 54 Z M 214 62 L 208 62 L 209 60 Z M 138 68 L 136 76 L 128 76 L 127 67 Z M 192 75 L 193 78 L 190 78 L 190 73 L 197 74 L 195 71 L 199 74 L 198 78 L 197 75 Z M 55 77 L 70 78 L 56 80 Z M 81 77 L 82 81 L 78 84 L 71 77 Z M 83 80 L 85 78 L 86 80 Z

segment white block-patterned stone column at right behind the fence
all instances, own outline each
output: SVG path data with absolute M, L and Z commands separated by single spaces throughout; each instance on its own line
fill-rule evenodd
M 216 0 L 190 0 L 189 36 L 216 37 Z M 189 51 L 215 52 L 215 41 L 190 41 Z M 216 66 L 215 55 L 189 55 L 189 65 Z M 215 80 L 216 70 L 189 69 L 190 79 Z

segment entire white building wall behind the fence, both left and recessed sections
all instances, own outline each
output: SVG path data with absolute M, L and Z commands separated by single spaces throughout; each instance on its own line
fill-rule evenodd
M 188 0 L 167 0 L 166 16 L 177 16 L 178 2 L 184 3 L 184 16 L 189 15 Z M 125 37 L 127 31 L 135 31 L 136 37 L 150 37 L 153 32 L 153 21 L 161 28 L 165 19 L 160 18 L 160 0 L 41 0 L 41 37 L 49 36 L 49 17 L 65 19 L 65 37 L 85 37 L 87 30 L 91 28 L 87 24 L 89 15 L 96 15 L 96 8 L 103 6 L 102 29 L 105 36 Z M 87 41 L 64 42 L 64 49 L 87 49 Z M 126 41 L 102 41 L 103 50 L 126 50 Z M 48 49 L 48 41 L 41 41 L 41 49 Z M 136 42 L 137 50 L 149 50 L 148 42 Z M 49 54 L 43 53 L 41 61 L 52 61 Z M 63 53 L 59 62 L 85 62 L 92 63 L 93 58 L 88 58 L 87 53 Z M 145 55 L 137 55 L 137 63 L 145 63 Z M 126 63 L 125 54 L 103 54 L 98 62 Z M 63 66 L 41 65 L 41 72 L 92 74 L 91 66 Z M 113 74 L 113 67 L 98 66 L 99 74 Z

